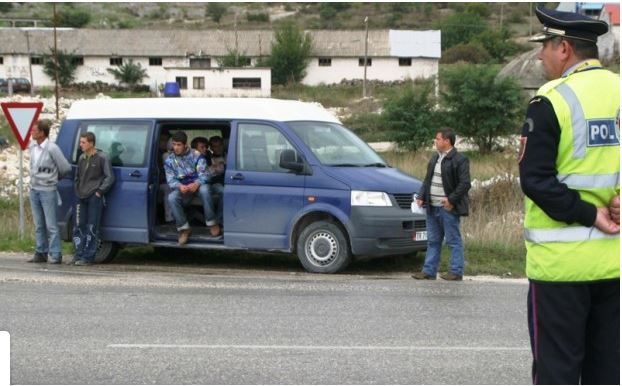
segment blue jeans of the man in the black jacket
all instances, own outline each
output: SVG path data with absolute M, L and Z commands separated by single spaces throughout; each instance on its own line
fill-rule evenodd
M 436 276 L 444 238 L 451 248 L 449 270 L 462 276 L 464 274 L 464 247 L 462 236 L 460 236 L 460 216 L 443 207 L 430 206 L 426 217 L 426 228 L 428 231 L 428 251 L 425 254 L 423 272 L 430 276 Z

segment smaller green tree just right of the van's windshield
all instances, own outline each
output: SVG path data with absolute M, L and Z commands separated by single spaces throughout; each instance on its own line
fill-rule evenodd
M 429 144 L 439 128 L 431 97 L 432 83 L 423 87 L 408 87 L 387 98 L 382 120 L 400 147 L 417 150 Z

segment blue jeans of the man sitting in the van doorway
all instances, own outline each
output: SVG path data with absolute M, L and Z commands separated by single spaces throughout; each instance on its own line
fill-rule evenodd
M 195 195 L 198 195 L 203 204 L 203 215 L 205 216 L 205 225 L 212 226 L 222 221 L 222 204 L 219 204 L 216 212 L 214 210 L 214 203 L 212 202 L 211 193 L 215 188 L 213 185 L 203 184 L 194 193 L 182 193 L 179 189 L 175 189 L 168 195 L 168 203 L 173 211 L 173 217 L 175 217 L 175 226 L 178 231 L 190 229 L 188 219 L 184 211 L 184 207 L 190 205 L 190 202 Z M 216 188 L 217 189 L 217 188 Z M 219 200 L 222 202 L 222 200 Z

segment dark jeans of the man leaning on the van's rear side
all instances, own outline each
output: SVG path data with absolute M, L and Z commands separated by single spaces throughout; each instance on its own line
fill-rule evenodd
M 79 198 L 76 205 L 76 224 L 73 227 L 75 260 L 93 262 L 99 247 L 99 227 L 104 211 L 104 197 L 96 194 Z

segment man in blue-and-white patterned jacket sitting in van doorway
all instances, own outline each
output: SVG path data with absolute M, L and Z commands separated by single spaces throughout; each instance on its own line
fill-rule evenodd
M 197 195 L 203 203 L 205 225 L 209 227 L 212 236 L 218 236 L 220 225 L 210 195 L 211 174 L 207 161 L 200 152 L 187 146 L 188 136 L 183 131 L 174 133 L 172 142 L 173 152 L 164 161 L 164 169 L 166 182 L 172 190 L 168 202 L 173 210 L 179 244 L 186 244 L 191 233 L 184 207 Z

